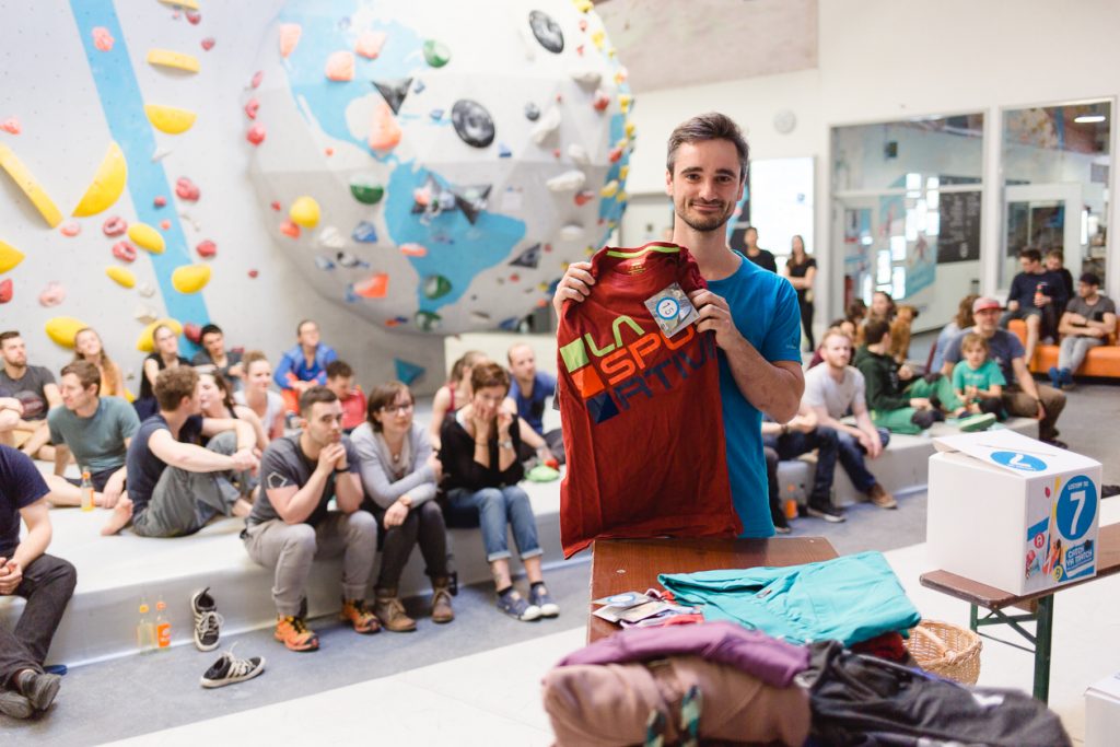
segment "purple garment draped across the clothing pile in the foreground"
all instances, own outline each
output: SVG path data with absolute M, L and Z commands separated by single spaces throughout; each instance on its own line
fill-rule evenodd
M 629 628 L 564 656 L 557 666 L 625 664 L 672 655 L 727 664 L 777 688 L 788 687 L 809 667 L 809 648 L 726 620 Z

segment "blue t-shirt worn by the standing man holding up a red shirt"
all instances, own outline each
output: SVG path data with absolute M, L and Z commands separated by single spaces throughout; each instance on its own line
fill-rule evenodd
M 763 270 L 743 254 L 739 269 L 708 289 L 727 300 L 739 334 L 769 361 L 801 363 L 801 309 L 790 281 Z M 724 405 L 727 471 L 743 536 L 772 536 L 774 521 L 766 488 L 762 412 L 739 391 L 727 356 L 719 352 L 719 393 Z

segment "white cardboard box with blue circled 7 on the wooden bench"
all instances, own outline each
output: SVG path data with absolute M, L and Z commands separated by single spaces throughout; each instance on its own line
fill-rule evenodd
M 1023 595 L 1096 575 L 1101 464 L 1010 430 L 935 438 L 934 568 Z

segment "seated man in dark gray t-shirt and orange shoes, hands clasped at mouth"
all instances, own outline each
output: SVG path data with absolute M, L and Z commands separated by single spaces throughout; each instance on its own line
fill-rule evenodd
M 361 510 L 357 450 L 343 433 L 338 398 L 326 386 L 311 386 L 300 395 L 299 408 L 302 430 L 264 451 L 264 489 L 242 539 L 253 562 L 276 572 L 276 639 L 290 651 L 315 651 L 319 636 L 307 627 L 307 579 L 316 558 L 343 555 L 343 619 L 355 633 L 381 629 L 365 608 L 377 524 Z M 337 511 L 329 510 L 332 498 Z

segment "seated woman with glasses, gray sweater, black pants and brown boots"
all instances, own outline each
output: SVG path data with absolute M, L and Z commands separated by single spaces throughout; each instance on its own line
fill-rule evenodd
M 412 392 L 400 382 L 377 386 L 370 394 L 368 421 L 352 436 L 365 486 L 362 507 L 385 531 L 373 611 L 385 629 L 396 633 L 417 627 L 398 596 L 401 572 L 417 543 L 431 578 L 431 620 L 455 619 L 447 568 L 447 527 L 436 502 L 442 466 L 424 429 L 413 420 L 413 402 Z

